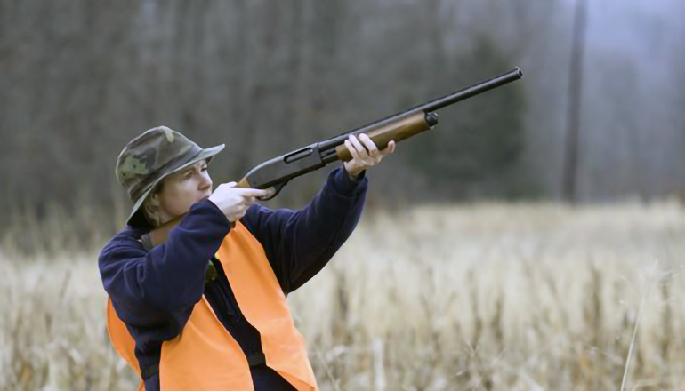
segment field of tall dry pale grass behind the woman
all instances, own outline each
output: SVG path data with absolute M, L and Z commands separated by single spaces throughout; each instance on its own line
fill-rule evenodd
M 0 389 L 133 389 L 102 242 L 21 256 L 70 228 L 22 229 L 0 249 Z M 685 389 L 683 238 L 670 202 L 367 211 L 289 301 L 322 390 Z

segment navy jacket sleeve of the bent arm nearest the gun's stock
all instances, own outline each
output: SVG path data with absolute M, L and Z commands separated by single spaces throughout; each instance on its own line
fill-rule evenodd
M 131 227 L 105 245 L 98 266 L 117 315 L 129 325 L 160 322 L 178 330 L 205 290 L 209 259 L 219 250 L 230 222 L 211 201 L 195 203 L 165 243 L 145 251 L 144 233 Z

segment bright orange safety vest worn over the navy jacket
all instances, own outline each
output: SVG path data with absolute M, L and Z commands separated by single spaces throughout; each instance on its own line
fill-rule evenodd
M 266 364 L 298 391 L 318 391 L 302 334 L 293 317 L 262 244 L 238 221 L 224 237 L 216 258 L 238 300 L 243 315 L 262 336 Z M 133 353 L 135 342 L 107 300 L 109 339 L 119 355 L 141 376 Z M 163 391 L 254 391 L 250 367 L 238 342 L 231 337 L 202 296 L 176 338 L 162 343 L 159 382 Z M 144 390 L 141 379 L 140 390 Z

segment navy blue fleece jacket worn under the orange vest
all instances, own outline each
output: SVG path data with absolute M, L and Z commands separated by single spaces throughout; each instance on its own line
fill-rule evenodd
M 368 180 L 351 180 L 342 167 L 328 174 L 323 188 L 299 211 L 271 210 L 255 203 L 240 221 L 262 243 L 284 292 L 295 291 L 316 275 L 357 226 Z M 205 284 L 208 260 L 230 232 L 230 222 L 209 200 L 195 203 L 168 240 L 151 251 L 138 241 L 150 227 L 125 227 L 104 246 L 98 259 L 102 283 L 117 315 L 135 340 L 141 370 L 155 368 L 161 343 L 173 339 L 205 294 L 226 329 L 246 355 L 261 351 L 259 333 L 246 322 L 223 273 Z M 266 367 L 252 368 L 255 387 L 285 381 Z M 278 378 L 278 379 L 277 379 Z M 152 371 L 146 388 L 158 389 Z M 257 389 L 259 391 L 259 389 Z

